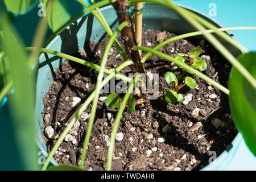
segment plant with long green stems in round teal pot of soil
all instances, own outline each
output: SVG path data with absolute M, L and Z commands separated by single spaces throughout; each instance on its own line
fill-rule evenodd
M 35 105 L 36 120 L 40 123 L 39 147 L 45 153 L 47 148 L 51 149 L 42 169 L 47 169 L 53 156 L 64 165 L 50 169 L 200 169 L 209 163 L 210 152 L 221 154 L 236 136 L 232 117 L 255 154 L 254 117 L 245 118 L 255 114 L 249 99 L 255 93 L 254 68 L 250 67 L 255 54 L 246 53 L 244 47 L 223 32 L 233 28 L 216 27 L 208 18 L 170 1 L 119 0 L 110 2 L 112 6 L 102 12 L 98 7 L 109 1 L 93 2 L 90 7 L 78 2 L 88 7 L 82 14 L 91 11 L 92 15 L 80 18 L 65 31 L 73 19 L 59 26 L 51 37 L 60 35 L 47 48 L 39 48 L 40 44 L 26 48 L 34 51 L 29 59 L 30 66 L 35 66 L 32 73 L 38 72 Z M 129 9 L 134 3 L 135 9 Z M 47 3 L 46 7 L 50 10 L 52 6 Z M 153 10 L 159 10 L 154 19 Z M 134 18 L 130 13 L 135 13 Z M 42 22 L 46 24 L 46 20 Z M 115 27 L 114 32 L 109 24 Z M 192 27 L 199 31 L 191 32 Z M 117 38 L 119 32 L 121 37 Z M 181 35 L 175 36 L 173 32 Z M 212 36 L 213 32 L 221 39 Z M 105 33 L 109 39 L 104 38 Z M 204 35 L 233 65 L 229 89 L 226 86 L 230 65 L 223 64 L 221 61 L 226 60 L 202 37 L 185 40 L 196 35 Z M 147 47 L 140 46 L 142 43 Z M 39 51 L 43 52 L 39 63 L 33 62 Z M 243 54 L 237 60 L 240 51 Z M 137 73 L 135 77 L 127 77 L 131 72 Z M 119 94 L 102 93 L 101 89 L 114 77 L 122 80 L 119 87 L 126 85 L 126 92 L 119 89 Z M 15 83 L 14 77 L 13 80 Z M 241 84 L 241 90 L 237 84 Z M 115 89 L 119 88 L 117 85 L 114 84 Z M 134 87 L 137 89 L 132 92 Z M 245 106 L 246 110 L 241 112 Z M 222 154 L 221 158 L 222 165 L 228 163 L 229 155 Z M 220 159 L 216 160 L 217 169 L 223 169 Z M 53 163 L 57 164 L 54 160 Z

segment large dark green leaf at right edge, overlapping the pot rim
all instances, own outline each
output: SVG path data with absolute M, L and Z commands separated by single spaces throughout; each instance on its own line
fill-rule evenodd
M 238 61 L 256 78 L 256 52 L 245 53 Z M 247 147 L 256 156 L 256 89 L 236 69 L 229 76 L 230 111 Z

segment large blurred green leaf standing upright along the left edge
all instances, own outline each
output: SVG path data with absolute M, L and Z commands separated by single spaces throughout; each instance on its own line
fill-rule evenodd
M 16 31 L 11 27 L 6 13 L 0 8 L 0 27 L 6 41 L 1 42 L 3 51 L 10 63 L 10 73 L 14 82 L 15 93 L 10 95 L 10 109 L 13 111 L 13 126 L 16 144 L 24 167 L 38 169 L 37 147 L 35 143 L 35 77 L 27 63 L 27 56 Z M 18 154 L 17 154 L 18 155 Z

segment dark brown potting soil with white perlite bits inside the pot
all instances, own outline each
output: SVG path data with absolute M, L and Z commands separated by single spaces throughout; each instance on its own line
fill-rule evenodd
M 157 34 L 159 32 L 154 30 L 144 32 L 143 45 L 155 47 L 158 44 Z M 175 36 L 169 32 L 165 33 L 165 39 Z M 188 53 L 192 48 L 200 45 L 199 42 L 190 41 L 178 40 L 164 46 L 160 51 L 174 56 L 177 53 Z M 105 40 L 97 45 L 95 43 L 88 44 L 85 48 L 86 60 L 98 64 L 105 45 Z M 208 43 L 205 43 L 201 55 L 210 56 L 210 60 L 203 56 L 208 65 L 208 69 L 204 73 L 227 86 L 230 65 L 226 60 Z M 121 56 L 113 47 L 107 68 L 115 68 L 121 62 Z M 163 75 L 167 71 L 179 73 L 180 69 L 174 70 L 170 62 L 156 56 L 151 56 L 145 65 L 147 71 L 159 73 L 159 84 L 162 88 L 160 97 L 137 106 L 136 111 L 132 114 L 128 114 L 126 111 L 123 113 L 118 131 L 123 134 L 123 140 L 115 142 L 113 169 L 192 170 L 203 168 L 209 164 L 208 160 L 212 156 L 209 155 L 209 152 L 216 151 L 217 155 L 220 155 L 222 151 L 230 147 L 230 143 L 237 134 L 229 113 L 228 97 L 207 82 L 195 77 L 197 89 L 183 88 L 180 90 L 184 96 L 192 94 L 192 101 L 189 101 L 187 105 L 167 104 L 163 94 L 171 86 L 166 84 Z M 123 70 L 122 73 L 130 73 L 130 68 Z M 45 126 L 51 125 L 60 135 L 65 123 L 92 92 L 97 72 L 71 61 L 65 61 L 53 75 L 55 75 L 55 82 L 43 98 L 43 117 Z M 209 98 L 210 94 L 216 94 L 217 97 Z M 73 97 L 81 98 L 81 102 L 75 107 L 72 106 Z M 195 108 L 200 109 L 197 116 L 192 114 Z M 90 113 L 90 108 L 85 113 Z M 84 164 L 85 169 L 105 169 L 108 138 L 113 124 L 111 119 L 108 119 L 108 113 L 115 117 L 117 109 L 110 110 L 104 102 L 100 101 Z M 77 143 L 74 140 L 73 142 L 64 141 L 54 156 L 57 162 L 79 163 L 88 119 L 80 118 L 79 122 L 77 122 L 77 128 L 72 130 L 72 136 L 75 137 L 73 139 L 76 139 Z M 162 129 L 167 124 L 170 126 L 170 130 L 164 133 Z M 159 137 L 164 137 L 166 141 L 159 143 Z M 56 139 L 45 138 L 47 146 L 51 150 Z M 150 153 L 149 150 L 151 155 L 147 156 Z

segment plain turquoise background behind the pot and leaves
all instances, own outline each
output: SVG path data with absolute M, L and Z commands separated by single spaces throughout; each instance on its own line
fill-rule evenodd
M 87 0 L 85 0 L 88 2 Z M 208 14 L 209 3 L 215 3 L 217 5 L 217 16 L 214 19 L 220 22 L 224 27 L 238 27 L 238 26 L 256 26 L 256 1 L 228 1 L 228 0 L 180 0 L 175 1 L 182 5 L 194 7 L 197 10 L 203 11 Z M 71 14 L 76 15 L 83 7 L 79 3 L 69 0 L 71 8 Z M 0 3 L 1 4 L 1 3 Z M 1 4 L 2 6 L 2 4 Z M 31 46 L 32 36 L 36 25 L 38 23 L 38 8 L 30 11 L 26 15 L 17 16 L 14 18 L 14 26 L 18 30 L 26 46 Z M 51 34 L 48 31 L 48 34 Z M 251 51 L 256 51 L 256 31 L 232 31 L 232 34 L 236 36 L 239 42 Z M 0 106 L 1 107 L 1 106 Z M 0 169 L 24 169 L 22 166 L 22 160 L 20 160 L 18 148 L 15 144 L 15 138 L 12 125 L 10 121 L 10 114 L 7 105 L 0 109 L 0 138 L 1 138 L 1 162 Z M 244 142 L 240 144 L 237 155 L 230 166 L 227 168 L 230 170 L 256 170 L 256 158 L 247 149 Z

